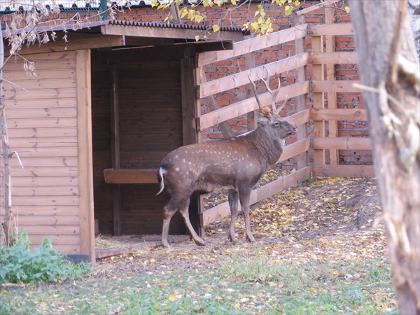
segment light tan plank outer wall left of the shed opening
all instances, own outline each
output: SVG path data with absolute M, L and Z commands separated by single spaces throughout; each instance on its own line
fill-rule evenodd
M 50 237 L 62 253 L 80 253 L 76 52 L 25 56 L 5 68 L 12 159 L 13 206 L 34 246 Z M 3 204 L 3 196 L 1 197 Z M 2 205 L 1 204 L 1 205 Z

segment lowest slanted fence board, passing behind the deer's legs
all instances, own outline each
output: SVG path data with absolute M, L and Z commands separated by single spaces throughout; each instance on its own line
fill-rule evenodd
M 302 181 L 306 181 L 311 176 L 311 167 L 304 167 L 293 174 L 289 174 L 276 179 L 271 183 L 267 183 L 264 186 L 252 190 L 250 196 L 250 204 L 255 204 L 261 200 L 272 196 L 276 193 L 289 188 L 290 186 L 296 185 Z M 240 204 L 240 203 L 239 203 Z M 238 206 L 240 207 L 240 205 Z M 214 221 L 218 221 L 221 218 L 228 216 L 230 214 L 230 208 L 228 202 L 223 202 L 223 204 L 218 204 L 216 207 L 207 209 L 202 214 L 200 214 L 200 225 L 206 226 Z

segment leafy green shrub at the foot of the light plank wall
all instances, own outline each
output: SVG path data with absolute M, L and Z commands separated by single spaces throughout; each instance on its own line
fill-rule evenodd
M 65 255 L 52 248 L 45 238 L 32 252 L 26 230 L 21 230 L 15 245 L 0 244 L 0 283 L 43 283 L 78 279 L 90 272 L 90 264 L 72 263 Z

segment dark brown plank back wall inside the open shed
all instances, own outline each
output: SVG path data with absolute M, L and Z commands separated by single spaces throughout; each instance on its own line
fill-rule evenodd
M 112 184 L 104 182 L 103 174 L 112 167 L 109 73 L 113 63 L 118 64 L 120 167 L 153 169 L 183 144 L 179 54 L 178 50 L 162 54 L 154 49 L 93 52 L 94 203 L 101 233 L 113 232 Z M 165 193 L 155 196 L 157 192 L 158 184 L 121 185 L 123 234 L 162 232 L 162 208 L 168 197 Z M 181 216 L 174 217 L 170 232 L 185 233 Z

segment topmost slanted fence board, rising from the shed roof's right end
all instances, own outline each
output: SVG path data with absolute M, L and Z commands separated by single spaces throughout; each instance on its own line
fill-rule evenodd
M 213 64 L 214 62 L 244 55 L 255 50 L 261 50 L 281 43 L 287 43 L 288 41 L 294 41 L 297 38 L 302 38 L 307 35 L 307 26 L 307 24 L 298 25 L 291 27 L 290 29 L 274 31 L 271 34 L 267 34 L 267 36 L 238 41 L 233 44 L 232 50 L 200 52 L 197 57 L 197 66 Z

